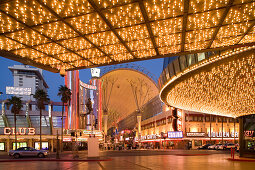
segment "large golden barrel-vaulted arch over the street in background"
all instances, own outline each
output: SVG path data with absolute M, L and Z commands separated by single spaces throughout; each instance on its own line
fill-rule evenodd
M 139 108 L 141 112 L 143 112 L 143 105 L 153 100 L 159 93 L 155 81 L 143 72 L 130 68 L 111 70 L 102 75 L 99 80 L 102 84 L 102 96 L 105 95 L 105 97 L 102 97 L 102 103 L 104 103 L 104 100 L 108 100 L 107 106 L 102 106 L 108 114 L 108 129 L 111 127 L 117 128 L 119 122 L 128 118 L 131 114 L 137 113 L 138 105 L 141 107 Z M 113 85 L 112 82 L 114 82 Z M 108 86 L 105 85 L 107 83 Z M 105 94 L 103 94 L 104 90 Z

